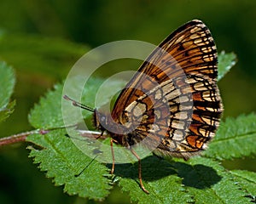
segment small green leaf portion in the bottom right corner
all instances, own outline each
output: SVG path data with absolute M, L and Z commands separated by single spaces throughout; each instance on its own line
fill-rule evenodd
M 234 176 L 234 180 L 247 193 L 247 197 L 252 199 L 252 202 L 256 201 L 256 173 L 232 170 L 230 173 Z

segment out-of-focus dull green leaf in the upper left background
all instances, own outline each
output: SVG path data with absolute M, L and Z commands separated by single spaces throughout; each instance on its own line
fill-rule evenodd
M 30 75 L 38 75 L 41 72 L 49 76 L 50 73 L 51 77 L 61 79 L 87 51 L 85 46 L 59 38 L 11 33 L 0 36 L 0 59 L 16 69 L 22 69 L 23 74 L 29 72 Z

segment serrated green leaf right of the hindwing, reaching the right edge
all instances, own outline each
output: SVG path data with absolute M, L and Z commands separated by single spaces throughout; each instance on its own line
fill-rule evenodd
M 204 152 L 218 160 L 256 155 L 256 115 L 227 118 L 221 122 L 215 138 Z

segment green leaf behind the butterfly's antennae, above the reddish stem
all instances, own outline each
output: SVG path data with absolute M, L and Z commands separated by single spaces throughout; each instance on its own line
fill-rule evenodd
M 95 108 L 95 98 L 98 88 L 104 82 L 101 78 L 90 78 L 86 83 L 86 88 L 83 91 L 82 103 Z M 72 92 L 76 92 L 76 88 L 79 84 L 83 83 L 83 77 L 77 77 L 73 80 Z M 110 87 L 113 93 L 115 93 L 124 84 L 123 81 L 111 82 Z M 79 88 L 78 88 L 79 89 Z M 109 89 L 109 88 L 108 88 Z M 108 103 L 111 99 L 111 91 L 108 89 L 103 89 L 104 97 L 100 97 L 101 105 Z M 70 118 L 69 121 L 72 122 L 69 125 L 77 124 L 81 122 L 81 118 L 76 117 L 75 111 L 83 111 L 84 118 L 91 117 L 92 113 L 90 111 L 84 111 L 72 105 L 70 101 L 63 99 L 63 85 L 57 84 L 53 91 L 49 91 L 45 97 L 42 97 L 38 103 L 35 105 L 29 114 L 29 122 L 33 127 L 36 128 L 55 128 L 63 127 L 63 116 L 62 110 L 68 111 L 67 114 Z M 63 107 L 61 107 L 61 101 L 63 101 Z M 76 99 L 79 101 L 79 99 Z

